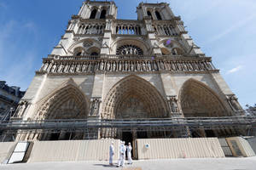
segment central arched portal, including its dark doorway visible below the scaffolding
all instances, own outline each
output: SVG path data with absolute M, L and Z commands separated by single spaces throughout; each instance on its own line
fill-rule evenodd
M 141 77 L 128 76 L 117 82 L 102 105 L 102 119 L 144 119 L 167 117 L 166 101 L 152 84 Z M 157 138 L 163 132 L 130 129 L 102 129 L 102 138 L 123 139 L 132 142 L 137 138 Z M 129 138 L 128 138 L 128 137 Z M 126 138 L 127 137 L 127 138 Z M 127 141 L 126 141 L 127 140 Z

